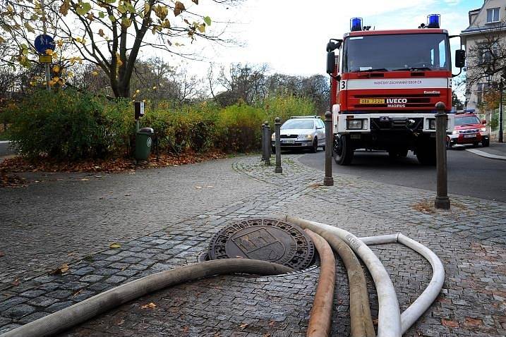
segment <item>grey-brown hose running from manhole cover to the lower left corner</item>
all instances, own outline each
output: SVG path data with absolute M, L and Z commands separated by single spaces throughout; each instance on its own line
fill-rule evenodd
M 181 266 L 112 288 L 88 300 L 8 331 L 1 337 L 53 336 L 140 296 L 198 278 L 232 273 L 276 275 L 290 271 L 293 269 L 288 266 L 255 259 L 217 259 Z

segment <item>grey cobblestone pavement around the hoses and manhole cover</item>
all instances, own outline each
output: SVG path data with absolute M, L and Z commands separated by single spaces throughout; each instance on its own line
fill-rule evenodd
M 506 204 L 335 176 L 284 156 L 284 173 L 243 157 L 1 190 L 0 332 L 157 271 L 193 263 L 231 220 L 292 214 L 358 236 L 402 232 L 445 265 L 442 293 L 405 336 L 506 336 Z M 209 187 L 212 186 L 212 187 Z M 109 243 L 119 242 L 119 249 Z M 426 260 L 372 246 L 401 310 L 430 281 Z M 66 263 L 68 272 L 49 275 Z M 272 277 L 216 276 L 127 303 L 62 336 L 305 336 L 318 268 Z M 367 274 L 373 316 L 378 301 Z M 337 259 L 333 334 L 349 336 L 347 277 Z M 156 307 L 143 305 L 153 302 Z

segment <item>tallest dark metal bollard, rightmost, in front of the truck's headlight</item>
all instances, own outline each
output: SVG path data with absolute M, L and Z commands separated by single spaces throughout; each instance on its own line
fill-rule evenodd
M 446 114 L 446 106 L 443 102 L 436 103 L 435 109 L 438 111 L 438 113 L 435 114 L 435 155 L 438 178 L 434 207 L 437 209 L 450 209 L 445 145 L 448 115 Z

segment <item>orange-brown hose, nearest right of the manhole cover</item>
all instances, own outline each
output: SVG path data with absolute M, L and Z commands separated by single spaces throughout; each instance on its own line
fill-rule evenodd
M 332 326 L 335 286 L 335 258 L 330 245 L 320 235 L 306 229 L 320 255 L 320 278 L 308 323 L 308 337 L 328 337 Z

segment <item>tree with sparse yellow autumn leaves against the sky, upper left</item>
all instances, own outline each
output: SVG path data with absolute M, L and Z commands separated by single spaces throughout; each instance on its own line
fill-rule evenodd
M 237 0 L 214 0 L 227 6 Z M 181 38 L 223 41 L 222 31 L 210 32 L 211 18 L 171 0 L 4 0 L 0 27 L 19 49 L 18 61 L 27 65 L 35 55 L 32 39 L 41 32 L 68 44 L 80 60 L 103 71 L 116 97 L 130 97 L 131 78 L 140 49 L 180 51 Z M 187 5 L 188 6 L 188 5 Z M 147 35 L 148 32 L 154 36 Z M 59 55 L 61 56 L 61 55 Z

